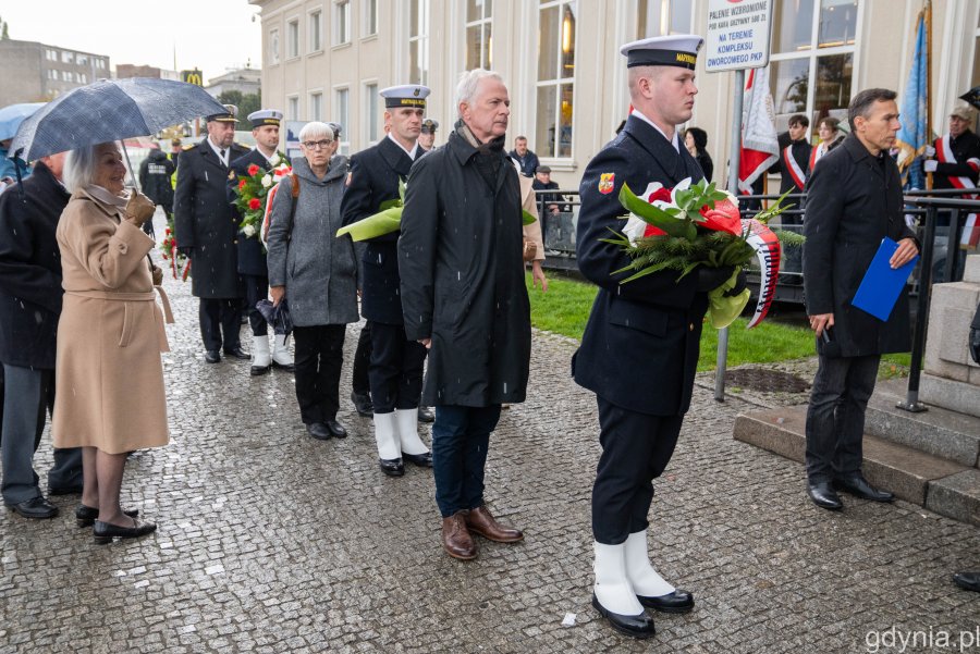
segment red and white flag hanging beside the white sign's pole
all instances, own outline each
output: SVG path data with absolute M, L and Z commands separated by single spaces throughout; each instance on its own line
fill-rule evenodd
M 780 158 L 775 112 L 769 90 L 769 66 L 749 71 L 743 107 L 738 190 L 750 195 L 752 182 L 764 175 L 769 166 Z

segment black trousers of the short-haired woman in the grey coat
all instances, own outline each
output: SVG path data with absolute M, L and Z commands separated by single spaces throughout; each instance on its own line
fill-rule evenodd
M 340 372 L 344 363 L 343 324 L 294 326 L 296 402 L 305 424 L 336 418 Z

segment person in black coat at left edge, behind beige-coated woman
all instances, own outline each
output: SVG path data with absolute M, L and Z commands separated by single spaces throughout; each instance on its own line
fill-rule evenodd
M 54 406 L 61 316 L 61 254 L 54 231 L 69 201 L 64 153 L 42 158 L 21 188 L 0 196 L 0 361 L 3 362 L 3 502 L 26 518 L 51 518 L 32 459 Z M 52 495 L 82 491 L 82 449 L 54 449 Z

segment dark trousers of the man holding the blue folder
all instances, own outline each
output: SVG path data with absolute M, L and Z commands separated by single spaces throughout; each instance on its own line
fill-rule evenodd
M 807 479 L 860 472 L 865 410 L 878 380 L 879 355 L 820 357 L 807 409 Z

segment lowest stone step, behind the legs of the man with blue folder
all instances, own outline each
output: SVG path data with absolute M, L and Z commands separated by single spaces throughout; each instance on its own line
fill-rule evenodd
M 735 419 L 734 437 L 804 462 L 807 407 L 767 409 Z M 980 470 L 865 435 L 865 477 L 873 485 L 944 516 L 980 526 Z M 800 473 L 800 488 L 805 473 Z

